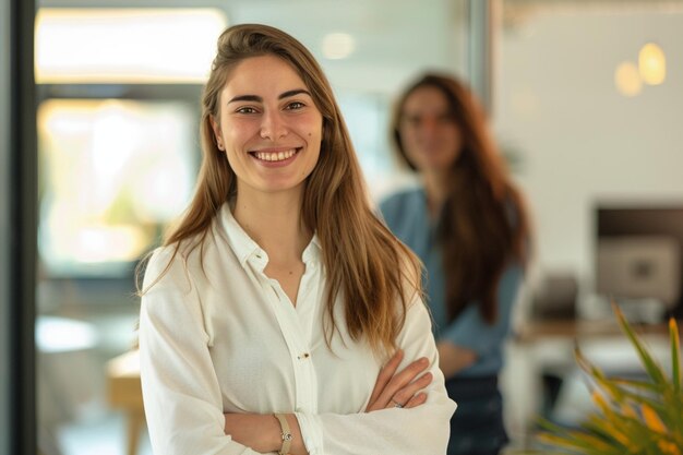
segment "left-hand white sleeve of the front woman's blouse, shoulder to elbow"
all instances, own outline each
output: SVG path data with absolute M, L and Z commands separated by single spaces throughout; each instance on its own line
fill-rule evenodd
M 180 254 L 157 280 L 169 259 L 167 250 L 151 258 L 140 313 L 140 370 L 153 452 L 256 455 L 225 434 L 208 335 Z

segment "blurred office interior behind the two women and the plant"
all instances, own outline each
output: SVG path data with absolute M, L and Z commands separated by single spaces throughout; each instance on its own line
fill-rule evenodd
M 312 50 L 374 201 L 411 184 L 387 141 L 404 84 L 448 71 L 483 100 L 536 234 L 503 378 L 513 446 L 528 444 L 538 414 L 585 411 L 574 338 L 608 369 L 634 364 L 609 296 L 649 326 L 681 318 L 683 1 L 43 0 L 35 12 L 46 455 L 149 453 L 124 356 L 133 271 L 191 196 L 201 87 L 232 24 L 274 25 Z

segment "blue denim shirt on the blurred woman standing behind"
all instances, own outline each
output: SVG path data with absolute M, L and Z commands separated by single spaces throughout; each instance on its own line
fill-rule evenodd
M 410 189 L 391 195 L 380 204 L 388 228 L 424 263 L 423 279 L 428 303 L 434 320 L 434 337 L 474 350 L 477 361 L 460 371 L 460 376 L 498 374 L 503 366 L 503 343 L 511 330 L 511 313 L 524 280 L 523 268 L 511 264 L 498 289 L 498 320 L 487 324 L 476 304 L 469 304 L 448 323 L 445 306 L 445 277 L 441 249 L 435 239 L 423 189 Z

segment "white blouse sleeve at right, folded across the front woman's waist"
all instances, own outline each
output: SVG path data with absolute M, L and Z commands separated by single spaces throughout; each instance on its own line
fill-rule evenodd
M 405 351 L 400 369 L 420 357 L 430 361 L 432 383 L 427 403 L 411 409 L 390 408 L 352 415 L 298 412 L 310 455 L 440 455 L 446 453 L 450 420 L 456 404 L 448 398 L 424 304 L 412 302 L 398 337 Z

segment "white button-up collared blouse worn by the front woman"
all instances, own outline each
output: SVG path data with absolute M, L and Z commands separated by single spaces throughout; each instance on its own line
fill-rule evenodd
M 317 238 L 303 252 L 305 272 L 293 307 L 263 270 L 268 258 L 220 209 L 203 249 L 173 259 L 157 249 L 145 273 L 140 318 L 143 397 L 158 455 L 256 454 L 225 434 L 224 412 L 295 412 L 310 455 L 441 455 L 455 410 L 444 387 L 419 299 L 397 344 L 399 370 L 430 360 L 427 403 L 364 412 L 384 361 L 346 331 L 343 302 L 332 350 L 323 332 L 325 272 Z M 203 258 L 202 258 L 203 255 Z

